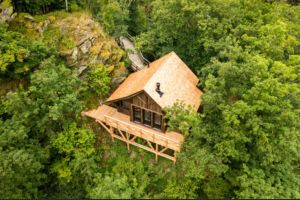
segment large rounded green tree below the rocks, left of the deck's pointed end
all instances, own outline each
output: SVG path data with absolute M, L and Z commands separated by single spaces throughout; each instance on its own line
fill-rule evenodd
M 82 109 L 79 95 L 80 81 L 76 74 L 52 57 L 31 75 L 27 91 L 7 95 L 1 111 L 32 129 L 51 132 L 57 130 L 57 122 L 66 116 L 76 116 Z

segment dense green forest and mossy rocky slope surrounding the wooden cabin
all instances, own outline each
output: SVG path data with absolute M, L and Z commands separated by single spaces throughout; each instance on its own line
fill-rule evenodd
M 298 0 L 0 0 L 0 198 L 300 198 L 299 22 Z M 200 79 L 201 112 L 166 110 L 175 165 L 80 114 L 130 73 L 125 34 Z

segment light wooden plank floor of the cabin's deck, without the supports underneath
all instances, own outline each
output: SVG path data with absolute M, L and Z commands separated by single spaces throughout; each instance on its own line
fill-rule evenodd
M 120 128 L 122 131 L 144 138 L 150 142 L 157 143 L 161 146 L 167 146 L 176 152 L 180 151 L 184 141 L 184 138 L 180 133 L 174 131 L 163 133 L 131 122 L 128 115 L 120 113 L 116 108 L 107 105 L 101 105 L 97 109 L 82 112 L 82 114 L 94 118 L 97 121 L 107 123 L 115 128 Z

